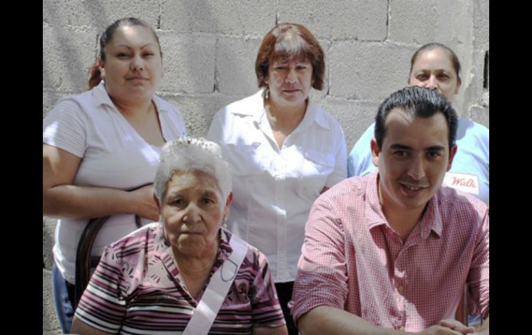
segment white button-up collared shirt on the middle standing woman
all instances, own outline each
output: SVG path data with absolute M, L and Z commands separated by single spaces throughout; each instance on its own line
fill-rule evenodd
M 231 167 L 229 229 L 265 253 L 274 281 L 283 283 L 296 278 L 312 203 L 347 176 L 347 152 L 339 123 L 313 102 L 279 149 L 263 94 L 218 111 L 207 138 Z

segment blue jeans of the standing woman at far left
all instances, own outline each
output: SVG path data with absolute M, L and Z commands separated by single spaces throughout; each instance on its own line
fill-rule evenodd
M 64 334 L 70 333 L 74 318 L 75 286 L 68 283 L 55 266 L 52 267 L 52 292 L 55 314 Z

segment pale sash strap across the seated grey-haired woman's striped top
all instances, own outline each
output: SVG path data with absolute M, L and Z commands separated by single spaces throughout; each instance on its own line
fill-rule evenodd
M 214 319 L 227 296 L 229 287 L 234 282 L 238 269 L 240 269 L 240 265 L 242 265 L 247 253 L 247 243 L 234 234 L 229 240 L 229 245 L 233 248 L 233 252 L 211 277 L 211 281 L 207 285 L 198 307 L 194 309 L 192 318 L 184 329 L 184 335 L 205 335 L 209 333 L 209 329 L 211 329 Z

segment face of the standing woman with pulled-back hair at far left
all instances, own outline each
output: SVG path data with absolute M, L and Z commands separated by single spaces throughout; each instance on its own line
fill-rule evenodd
M 162 77 L 162 59 L 149 28 L 118 27 L 104 52 L 102 74 L 109 96 L 126 102 L 153 97 Z

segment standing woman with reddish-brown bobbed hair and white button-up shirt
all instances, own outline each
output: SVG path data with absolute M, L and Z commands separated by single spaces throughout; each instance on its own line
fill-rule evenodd
M 310 207 L 347 176 L 339 123 L 309 99 L 321 90 L 323 50 L 303 26 L 280 23 L 258 50 L 258 93 L 234 102 L 213 119 L 207 138 L 220 144 L 231 166 L 234 207 L 228 227 L 265 253 L 290 334 L 287 303 Z

